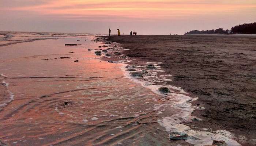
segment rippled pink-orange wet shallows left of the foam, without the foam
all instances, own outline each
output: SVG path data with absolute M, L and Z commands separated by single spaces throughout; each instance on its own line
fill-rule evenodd
M 23 43 L 28 48 L 26 52 L 18 49 L 20 45 L 17 44 L 3 48 L 7 51 L 12 48 L 24 54 L 11 51 L 19 54 L 19 62 L 11 64 L 12 70 L 17 69 L 14 74 L 7 70 L 7 61 L 1 62 L 4 66 L 1 73 L 6 77 L 4 80 L 10 83 L 8 90 L 15 95 L 15 100 L 1 111 L 1 140 L 9 145 L 169 144 L 168 133 L 157 123 L 158 110 L 153 110 L 155 104 L 163 102 L 161 98 L 124 78 L 120 64 L 103 62 L 101 57 L 95 57 L 92 51 L 87 50 L 97 50 L 101 43 L 89 42 L 89 39 L 82 46 L 63 45 L 76 41 L 74 38 Z M 28 56 L 29 49 L 33 48 L 46 48 L 47 54 L 37 51 Z M 5 57 L 7 60 L 16 58 L 11 55 Z M 27 62 L 30 66 L 23 65 Z M 27 68 L 35 72 L 27 72 Z M 42 88 L 44 90 L 38 90 Z M 21 119 L 24 122 L 16 123 Z M 40 131 L 30 138 L 30 133 L 38 129 Z M 22 131 L 22 134 L 16 134 L 16 131 Z M 51 132 L 50 136 L 47 131 Z M 185 141 L 170 143 L 171 146 L 179 144 L 191 146 Z

